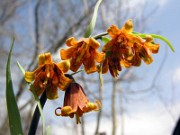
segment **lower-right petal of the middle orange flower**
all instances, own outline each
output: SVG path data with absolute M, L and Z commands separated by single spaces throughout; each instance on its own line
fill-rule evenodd
M 84 64 L 84 69 L 85 69 L 87 74 L 90 74 L 90 73 L 97 71 L 97 67 L 96 67 L 95 60 L 94 60 L 93 56 L 90 56 L 89 58 L 84 59 L 83 64 Z

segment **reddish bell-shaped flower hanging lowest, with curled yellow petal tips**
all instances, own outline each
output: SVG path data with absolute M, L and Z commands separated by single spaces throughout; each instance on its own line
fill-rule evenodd
M 63 107 L 58 107 L 55 110 L 57 116 L 69 116 L 74 118 L 76 116 L 76 123 L 81 123 L 80 117 L 84 113 L 90 111 L 98 111 L 101 108 L 99 101 L 95 103 L 89 102 L 83 88 L 78 83 L 71 83 L 67 88 L 64 97 Z M 61 111 L 61 113 L 58 112 Z

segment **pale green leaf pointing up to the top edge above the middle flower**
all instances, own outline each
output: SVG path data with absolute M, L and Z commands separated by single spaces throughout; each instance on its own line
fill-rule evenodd
M 96 19 L 97 19 L 98 8 L 99 8 L 99 5 L 101 4 L 101 1 L 102 0 L 98 0 L 98 2 L 95 5 L 92 20 L 91 20 L 90 24 L 88 25 L 88 27 L 86 29 L 86 32 L 84 34 L 85 38 L 90 37 L 92 31 L 94 30 L 94 27 L 95 27 L 95 24 L 96 24 Z

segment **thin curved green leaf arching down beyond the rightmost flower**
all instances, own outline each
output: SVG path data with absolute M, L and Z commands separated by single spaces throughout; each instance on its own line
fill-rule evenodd
M 141 33 L 138 33 L 138 32 L 133 32 L 133 34 L 136 35 L 136 36 L 140 36 L 141 38 L 146 38 L 146 35 L 151 35 L 153 38 L 157 38 L 157 39 L 160 39 L 160 40 L 164 41 L 169 46 L 169 48 L 173 52 L 175 52 L 175 50 L 174 50 L 172 44 L 170 43 L 170 41 L 167 38 L 163 37 L 163 36 L 160 36 L 160 35 L 157 35 L 157 34 L 141 34 Z

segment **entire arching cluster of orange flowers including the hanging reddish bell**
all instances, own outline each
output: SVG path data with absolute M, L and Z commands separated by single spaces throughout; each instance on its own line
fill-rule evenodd
M 33 72 L 25 73 L 25 80 L 32 83 L 31 91 L 38 96 L 43 91 L 48 99 L 58 97 L 57 89 L 65 91 L 64 106 L 55 110 L 57 116 L 76 116 L 76 123 L 80 123 L 80 117 L 89 111 L 99 110 L 99 101 L 92 103 L 88 100 L 83 88 L 65 73 L 70 69 L 77 72 L 81 65 L 87 74 L 108 71 L 113 77 L 117 77 L 122 67 L 129 68 L 140 66 L 143 60 L 146 64 L 153 62 L 151 54 L 158 53 L 159 44 L 155 44 L 150 35 L 142 38 L 133 33 L 132 20 L 128 20 L 119 29 L 112 25 L 107 30 L 110 40 L 99 52 L 100 43 L 94 37 L 76 40 L 71 37 L 66 40 L 67 49 L 60 50 L 61 61 L 52 61 L 50 53 L 39 55 L 39 66 Z M 99 63 L 99 65 L 97 65 Z M 58 113 L 60 109 L 61 113 Z

